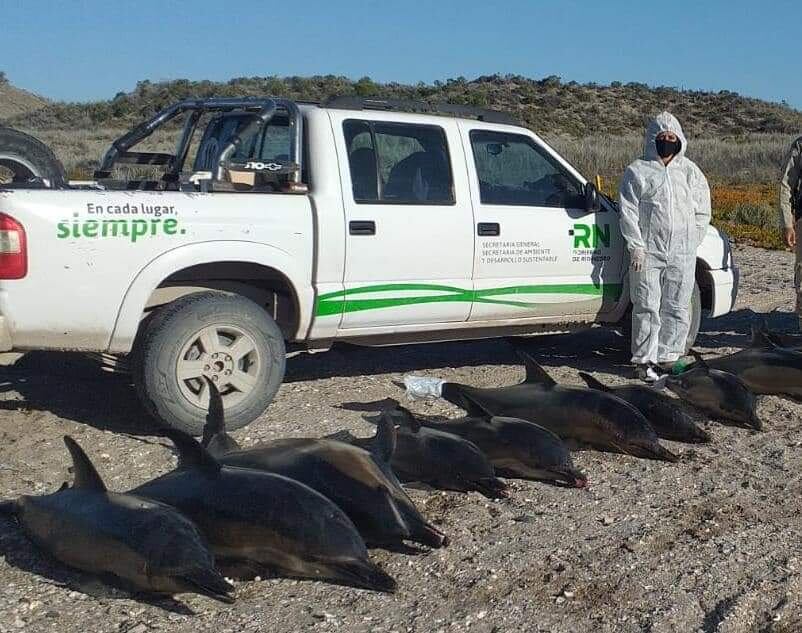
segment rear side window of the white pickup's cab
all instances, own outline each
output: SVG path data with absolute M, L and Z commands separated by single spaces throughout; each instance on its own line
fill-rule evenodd
M 454 204 L 443 128 L 348 120 L 343 133 L 357 203 Z

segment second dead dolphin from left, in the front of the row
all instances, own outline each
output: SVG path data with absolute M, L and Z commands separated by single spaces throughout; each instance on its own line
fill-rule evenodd
M 179 454 L 176 470 L 132 493 L 166 503 L 205 534 L 229 573 L 270 570 L 392 592 L 395 581 L 368 559 L 348 516 L 319 492 L 275 473 L 221 465 L 194 438 L 165 429 Z

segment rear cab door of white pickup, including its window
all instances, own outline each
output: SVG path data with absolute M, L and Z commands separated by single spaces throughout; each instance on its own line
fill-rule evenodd
M 344 194 L 343 329 L 466 321 L 473 209 L 454 121 L 330 114 Z M 385 115 L 386 116 L 386 115 Z

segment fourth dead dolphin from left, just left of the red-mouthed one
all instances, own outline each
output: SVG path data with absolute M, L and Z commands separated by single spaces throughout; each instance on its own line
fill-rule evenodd
M 507 485 L 498 479 L 493 465 L 476 444 L 439 429 L 422 427 L 412 413 L 395 401 L 377 417 L 365 416 L 374 424 L 396 426 L 396 446 L 390 461 L 398 478 L 434 488 L 470 492 L 475 490 L 490 499 L 507 496 Z M 356 438 L 351 443 L 368 450 L 379 437 Z

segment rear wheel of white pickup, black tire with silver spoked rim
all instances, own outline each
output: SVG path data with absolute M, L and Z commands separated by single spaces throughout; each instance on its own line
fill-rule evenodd
M 226 427 L 237 429 L 259 417 L 275 397 L 285 356 L 281 330 L 256 303 L 197 292 L 163 307 L 144 326 L 134 381 L 158 422 L 200 435 L 209 378 L 223 398 Z

